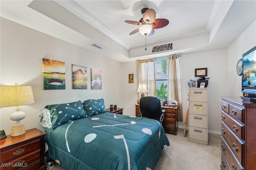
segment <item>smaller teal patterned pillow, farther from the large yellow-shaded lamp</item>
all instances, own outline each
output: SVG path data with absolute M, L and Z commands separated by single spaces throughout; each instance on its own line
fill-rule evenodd
M 84 101 L 83 105 L 87 114 L 86 117 L 106 112 L 104 99 L 89 99 Z

